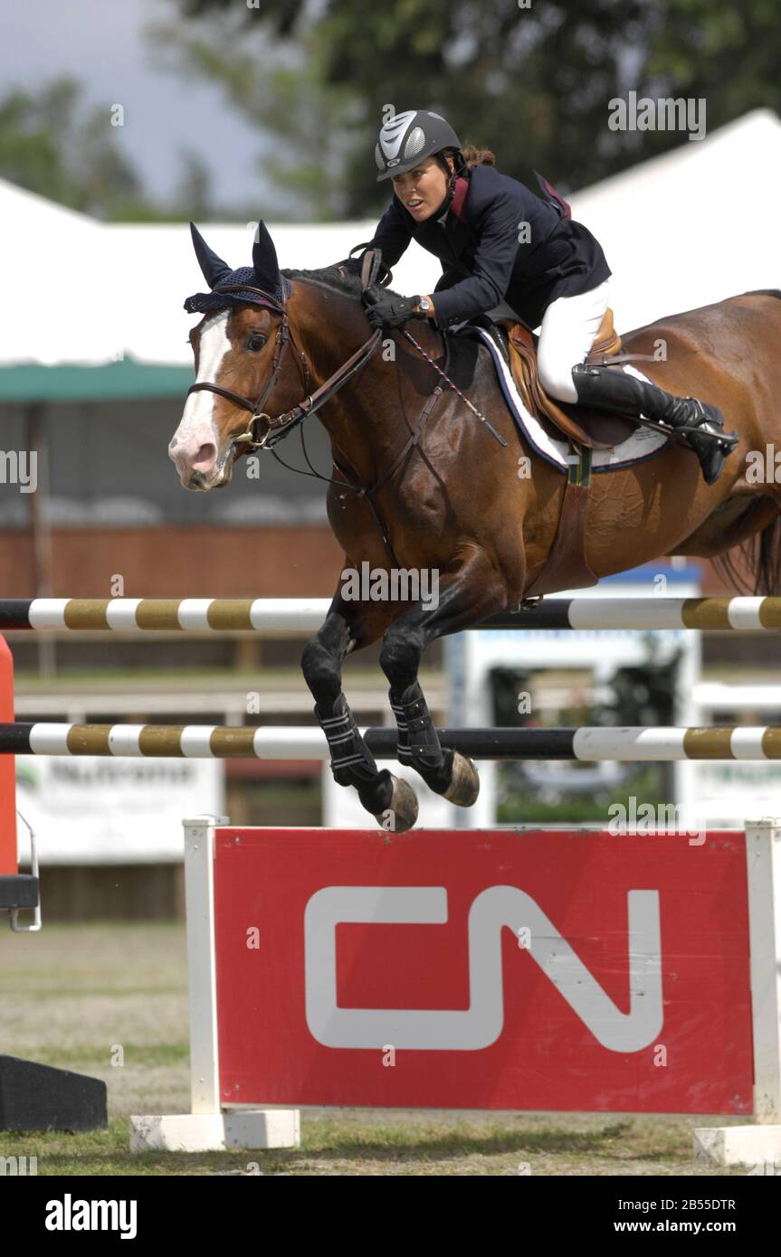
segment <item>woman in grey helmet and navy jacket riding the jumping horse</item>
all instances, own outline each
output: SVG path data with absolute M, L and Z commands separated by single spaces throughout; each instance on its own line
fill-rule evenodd
M 382 293 L 367 309 L 372 327 L 430 318 L 444 328 L 475 314 L 540 327 L 537 370 L 552 397 L 697 429 L 688 441 L 713 484 L 737 444 L 716 406 L 616 368 L 585 366 L 607 305 L 610 268 L 599 241 L 567 216 L 566 202 L 545 180 L 541 200 L 501 175 L 492 152 L 464 152 L 449 123 L 426 109 L 390 118 L 375 158 L 377 182 L 391 178 L 395 196 L 368 248 L 394 266 L 415 239 L 440 259 L 443 275 L 435 297 Z M 467 186 L 457 192 L 460 178 Z M 458 214 L 451 212 L 457 195 Z

